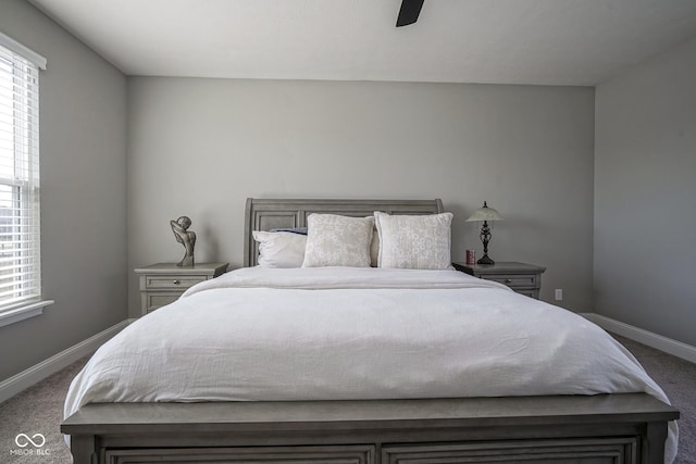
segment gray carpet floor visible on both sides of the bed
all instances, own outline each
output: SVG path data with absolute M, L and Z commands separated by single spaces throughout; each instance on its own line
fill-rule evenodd
M 678 464 L 696 464 L 696 364 L 617 337 L 641 361 L 681 411 Z M 36 386 L 0 404 L 0 463 L 69 464 L 70 451 L 60 434 L 63 399 L 71 379 L 87 360 L 48 377 Z M 17 455 L 15 437 L 42 434 L 42 455 Z M 37 438 L 38 440 L 38 438 Z M 33 448 L 28 446 L 26 449 Z

